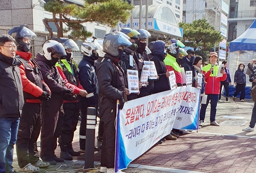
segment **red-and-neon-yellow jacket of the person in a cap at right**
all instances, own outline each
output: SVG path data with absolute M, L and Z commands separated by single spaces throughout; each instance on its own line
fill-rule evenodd
M 203 74 L 205 76 L 205 94 L 220 94 L 221 81 L 226 80 L 227 74 L 223 74 L 222 77 L 216 77 L 219 66 L 214 66 L 214 74 L 210 72 L 211 64 L 203 67 Z

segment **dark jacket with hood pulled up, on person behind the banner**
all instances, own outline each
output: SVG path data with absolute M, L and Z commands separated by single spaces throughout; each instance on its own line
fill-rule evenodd
M 153 53 L 151 61 L 155 62 L 157 69 L 157 74 L 159 76 L 158 80 L 154 82 L 153 93 L 160 93 L 163 91 L 170 90 L 169 79 L 166 77 L 165 73 L 167 72 L 164 60 L 164 48 L 165 44 L 162 41 L 156 41 L 153 45 Z

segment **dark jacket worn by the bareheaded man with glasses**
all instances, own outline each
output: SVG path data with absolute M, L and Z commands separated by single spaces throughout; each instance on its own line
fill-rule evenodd
M 20 61 L 0 53 L 0 117 L 18 118 L 24 104 Z

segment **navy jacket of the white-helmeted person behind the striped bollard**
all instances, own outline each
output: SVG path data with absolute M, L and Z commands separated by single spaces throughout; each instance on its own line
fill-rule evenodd
M 94 94 L 92 97 L 84 97 L 80 99 L 87 101 L 92 106 L 95 106 L 98 101 L 98 80 L 96 76 L 95 62 L 89 57 L 83 56 L 78 65 L 78 69 L 79 81 L 82 88 L 86 90 L 88 94 Z

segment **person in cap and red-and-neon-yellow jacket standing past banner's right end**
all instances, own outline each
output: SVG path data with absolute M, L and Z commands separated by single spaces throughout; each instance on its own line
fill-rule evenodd
M 209 56 L 210 63 L 203 67 L 203 73 L 205 76 L 205 94 L 207 95 L 206 103 L 202 103 L 201 110 L 200 110 L 200 119 L 199 119 L 199 125 L 203 125 L 204 118 L 205 118 L 205 112 L 207 105 L 210 101 L 210 125 L 220 126 L 215 121 L 216 116 L 216 107 L 219 100 L 219 94 L 220 94 L 220 84 L 221 81 L 224 81 L 227 78 L 227 74 L 223 69 L 220 70 L 220 73 L 222 74 L 222 77 L 218 77 L 218 71 L 219 66 L 217 66 L 215 63 L 217 62 L 218 54 L 216 52 L 211 52 Z

